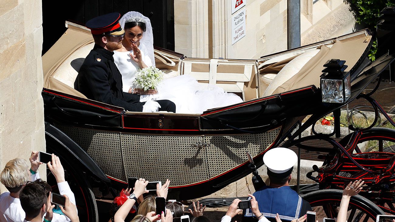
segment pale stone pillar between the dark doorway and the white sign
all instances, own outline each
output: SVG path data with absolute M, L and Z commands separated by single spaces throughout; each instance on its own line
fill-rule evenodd
M 175 51 L 188 57 L 208 57 L 207 0 L 174 0 Z

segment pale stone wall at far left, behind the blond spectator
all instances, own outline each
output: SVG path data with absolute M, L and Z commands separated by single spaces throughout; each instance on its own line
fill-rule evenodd
M 45 151 L 41 9 L 41 0 L 0 2 L 0 170 Z M 45 179 L 45 167 L 40 175 Z

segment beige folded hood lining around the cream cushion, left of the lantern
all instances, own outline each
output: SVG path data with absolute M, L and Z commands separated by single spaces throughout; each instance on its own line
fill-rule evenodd
M 308 85 L 315 85 L 320 87 L 320 75 L 324 69 L 324 64 L 327 60 L 332 58 L 337 58 L 341 60 L 346 60 L 346 65 L 348 66 L 345 71 L 350 71 L 350 69 L 356 64 L 360 56 L 367 49 L 369 42 L 371 41 L 371 36 L 366 33 L 356 34 L 355 36 L 349 36 L 348 38 L 337 38 L 333 40 L 332 44 L 319 45 L 314 49 L 319 49 L 316 55 L 312 56 L 307 63 L 297 73 L 294 73 L 289 79 L 284 81 L 280 86 L 272 89 L 270 92 L 265 90 L 267 83 L 276 80 L 276 74 L 281 74 L 282 68 L 286 64 L 290 63 L 292 60 L 297 59 L 298 55 L 306 52 L 300 51 L 297 53 L 290 54 L 288 56 L 282 56 L 283 60 L 276 59 L 273 62 L 266 60 L 264 62 L 258 61 L 258 71 L 259 71 L 259 81 L 260 81 L 260 96 L 269 96 L 272 94 L 282 93 L 297 88 L 306 87 Z M 296 54 L 296 55 L 295 55 Z M 280 57 L 281 58 L 281 57 Z M 274 74 L 274 75 L 273 75 Z

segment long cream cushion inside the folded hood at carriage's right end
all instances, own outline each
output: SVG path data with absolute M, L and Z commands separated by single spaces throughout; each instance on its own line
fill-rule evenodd
M 274 77 L 273 81 L 263 93 L 263 97 L 272 95 L 277 87 L 280 87 L 288 79 L 298 73 L 311 58 L 317 55 L 319 51 L 320 49 L 307 51 L 288 62 Z

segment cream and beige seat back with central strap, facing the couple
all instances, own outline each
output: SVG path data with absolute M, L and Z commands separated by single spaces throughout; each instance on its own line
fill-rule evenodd
M 200 83 L 215 84 L 226 92 L 241 93 L 243 100 L 258 98 L 256 60 L 184 58 L 181 74 Z

